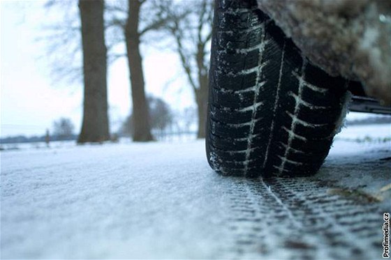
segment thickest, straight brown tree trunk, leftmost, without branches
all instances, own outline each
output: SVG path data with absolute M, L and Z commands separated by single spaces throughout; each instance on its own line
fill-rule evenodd
M 78 143 L 110 139 L 103 0 L 79 0 L 82 24 L 84 104 Z

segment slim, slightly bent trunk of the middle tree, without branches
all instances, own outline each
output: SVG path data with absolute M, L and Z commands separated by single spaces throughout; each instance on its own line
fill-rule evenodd
M 138 22 L 141 3 L 138 0 L 128 0 L 128 3 L 125 38 L 133 101 L 133 141 L 148 142 L 154 140 L 154 137 L 152 137 L 149 123 L 149 109 L 145 97 L 145 83 L 140 55 Z

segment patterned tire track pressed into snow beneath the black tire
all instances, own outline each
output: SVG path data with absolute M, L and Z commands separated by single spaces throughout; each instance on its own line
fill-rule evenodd
M 380 259 L 376 204 L 327 194 L 309 178 L 232 178 L 229 259 Z

